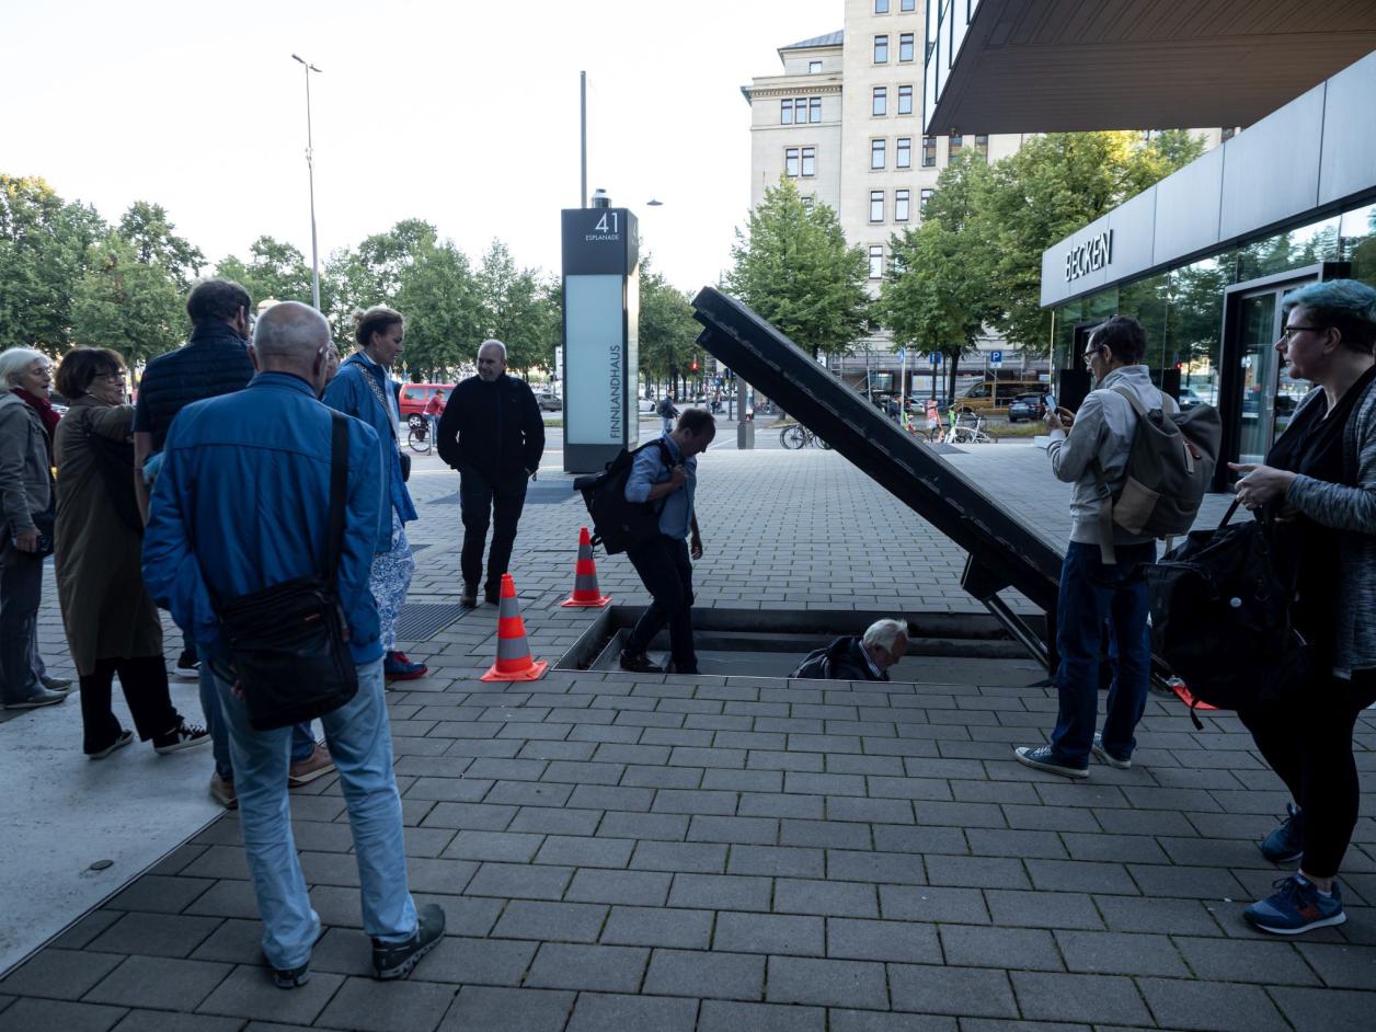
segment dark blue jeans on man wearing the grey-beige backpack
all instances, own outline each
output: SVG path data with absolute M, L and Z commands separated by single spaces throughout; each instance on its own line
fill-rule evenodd
M 1146 578 L 1142 566 L 1156 561 L 1156 542 L 1119 545 L 1117 563 L 1106 566 L 1098 545 L 1072 541 L 1061 566 L 1055 608 L 1055 671 L 1060 711 L 1051 751 L 1060 762 L 1087 766 L 1099 710 L 1099 648 L 1109 633 L 1113 684 L 1104 718 L 1104 749 L 1120 760 L 1132 755 L 1132 732 L 1146 707 L 1152 645 L 1146 629 Z

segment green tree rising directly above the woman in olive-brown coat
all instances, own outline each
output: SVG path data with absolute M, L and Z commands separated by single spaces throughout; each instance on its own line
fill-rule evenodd
M 184 293 L 160 263 L 140 261 L 118 231 L 91 248 L 72 305 L 72 336 L 111 348 L 131 367 L 176 348 L 186 332 Z

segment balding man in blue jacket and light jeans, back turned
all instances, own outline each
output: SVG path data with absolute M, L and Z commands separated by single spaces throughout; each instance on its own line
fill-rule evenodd
M 166 438 L 143 542 L 143 577 L 160 605 L 190 627 L 215 677 L 230 732 L 244 849 L 263 916 L 263 955 L 282 988 L 310 977 L 321 922 L 311 910 L 286 795 L 290 728 L 253 731 L 235 688 L 215 600 L 321 572 L 326 552 L 330 411 L 323 385 L 329 323 L 288 301 L 259 321 L 259 374 L 238 394 L 197 402 Z M 383 499 L 383 451 L 373 428 L 350 420 L 338 599 L 358 665 L 358 694 L 322 722 L 354 831 L 363 929 L 378 978 L 400 978 L 444 929 L 418 915 L 406 889 L 402 804 L 383 689 L 383 648 L 369 568 Z M 249 504 L 245 504 L 245 499 Z

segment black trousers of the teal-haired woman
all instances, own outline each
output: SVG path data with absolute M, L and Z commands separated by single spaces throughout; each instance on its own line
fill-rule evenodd
M 1241 709 L 1237 716 L 1304 815 L 1304 859 L 1315 878 L 1332 878 L 1357 827 L 1361 787 L 1353 729 L 1376 702 L 1376 671 L 1315 685 L 1302 703 Z

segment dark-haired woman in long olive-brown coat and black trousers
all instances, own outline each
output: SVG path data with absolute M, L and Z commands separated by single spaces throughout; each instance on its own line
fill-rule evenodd
M 139 739 L 166 754 L 211 736 L 172 707 L 162 621 L 143 586 L 143 520 L 133 494 L 133 406 L 124 366 L 103 348 L 73 348 L 58 369 L 72 407 L 58 424 L 54 552 L 67 647 L 81 677 L 83 749 L 103 760 L 133 739 L 110 709 L 116 674 Z

